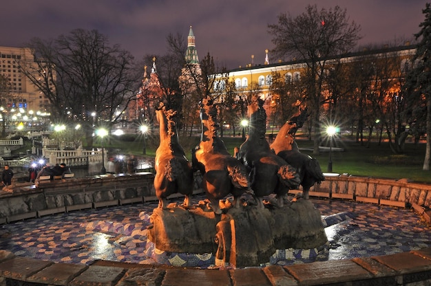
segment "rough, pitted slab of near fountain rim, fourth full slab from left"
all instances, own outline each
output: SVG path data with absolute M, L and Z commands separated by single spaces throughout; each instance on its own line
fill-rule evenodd
M 132 268 L 127 270 L 125 276 L 118 282 L 118 286 L 130 285 L 161 285 L 165 270 L 151 267 L 151 268 Z

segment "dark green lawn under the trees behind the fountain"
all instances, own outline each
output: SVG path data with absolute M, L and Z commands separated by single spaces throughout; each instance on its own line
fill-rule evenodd
M 242 137 L 222 138 L 229 153 L 233 154 L 233 148 L 242 144 Z M 188 159 L 191 158 L 191 149 L 199 142 L 199 137 L 180 137 L 180 144 L 186 152 Z M 157 137 L 147 137 L 147 156 L 155 156 L 158 146 Z M 328 166 L 329 152 L 321 152 L 313 155 L 311 149 L 313 142 L 310 140 L 297 140 L 297 144 L 302 153 L 316 157 L 322 168 L 326 172 Z M 95 144 L 95 146 L 97 146 Z M 425 143 L 414 145 L 406 143 L 406 152 L 402 155 L 394 155 L 390 151 L 388 142 L 372 142 L 370 148 L 350 140 L 348 137 L 337 140 L 336 146 L 344 151 L 332 152 L 333 172 L 348 173 L 355 176 L 379 177 L 388 179 L 410 179 L 411 181 L 431 183 L 431 171 L 423 171 L 423 159 L 425 157 Z M 143 137 L 127 137 L 121 139 L 113 137 L 105 147 L 110 151 L 119 149 L 123 154 L 143 155 Z

